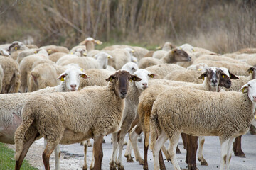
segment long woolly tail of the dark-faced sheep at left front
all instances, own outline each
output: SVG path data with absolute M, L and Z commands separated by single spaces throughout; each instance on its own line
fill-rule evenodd
M 14 156 L 14 159 L 18 161 L 19 157 L 21 156 L 21 153 L 23 151 L 23 145 L 24 145 L 24 138 L 26 135 L 26 132 L 28 131 L 28 128 L 31 127 L 33 123 L 34 117 L 31 114 L 28 114 L 23 117 L 21 125 L 18 126 L 15 135 L 14 135 L 14 142 L 15 142 L 15 148 L 16 153 Z

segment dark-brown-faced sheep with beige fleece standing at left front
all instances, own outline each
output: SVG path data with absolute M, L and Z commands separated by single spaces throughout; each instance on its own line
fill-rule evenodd
M 80 142 L 91 137 L 95 141 L 94 169 L 101 169 L 102 139 L 120 128 L 129 79 L 141 80 L 129 72 L 118 71 L 106 79 L 109 81 L 107 86 L 31 97 L 23 106 L 23 121 L 14 135 L 16 169 L 21 168 L 26 152 L 37 137 L 47 140 L 43 152 L 46 170 L 50 169 L 49 158 L 56 145 Z M 33 122 L 37 124 L 36 127 L 31 126 Z

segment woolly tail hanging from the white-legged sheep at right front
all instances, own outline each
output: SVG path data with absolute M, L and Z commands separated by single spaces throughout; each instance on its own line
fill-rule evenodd
M 149 148 L 151 150 L 154 149 L 154 145 L 156 144 L 156 140 L 157 140 L 157 137 L 158 137 L 158 127 L 159 127 L 159 121 L 158 121 L 158 115 L 157 115 L 157 112 L 156 112 L 156 109 L 152 108 L 152 112 L 151 112 L 151 126 L 150 126 L 150 136 L 151 136 L 151 140 L 150 140 L 150 145 L 149 145 Z

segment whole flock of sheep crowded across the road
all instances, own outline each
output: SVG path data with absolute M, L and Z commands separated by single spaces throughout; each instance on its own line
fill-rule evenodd
M 148 169 L 153 151 L 154 169 L 165 169 L 163 156 L 180 170 L 176 152 L 180 135 L 187 150 L 188 169 L 203 158 L 203 136 L 219 136 L 220 169 L 229 169 L 232 149 L 245 157 L 241 135 L 255 123 L 256 49 L 216 54 L 201 47 L 166 42 L 162 50 L 112 45 L 95 50 L 99 40 L 86 38 L 66 47 L 0 45 L 0 142 L 15 144 L 15 169 L 20 169 L 29 147 L 45 139 L 43 164 L 50 169 L 59 144 L 82 142 L 86 152 L 94 140 L 90 169 L 101 169 L 102 141 L 112 133 L 110 169 L 124 169 L 124 156 Z M 231 82 L 231 79 L 232 82 Z M 137 138 L 144 132 L 144 159 Z M 200 136 L 200 137 L 198 137 Z M 150 142 L 149 142 L 150 137 Z M 169 147 L 164 143 L 169 140 Z M 233 141 L 236 140 L 233 147 Z

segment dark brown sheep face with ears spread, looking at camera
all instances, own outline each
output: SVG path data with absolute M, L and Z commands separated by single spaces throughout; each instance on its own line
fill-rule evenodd
M 141 81 L 139 77 L 129 74 L 129 72 L 124 70 L 115 72 L 109 78 L 106 79 L 106 81 L 110 81 L 114 85 L 114 94 L 122 99 L 124 99 L 127 96 L 130 80 Z

